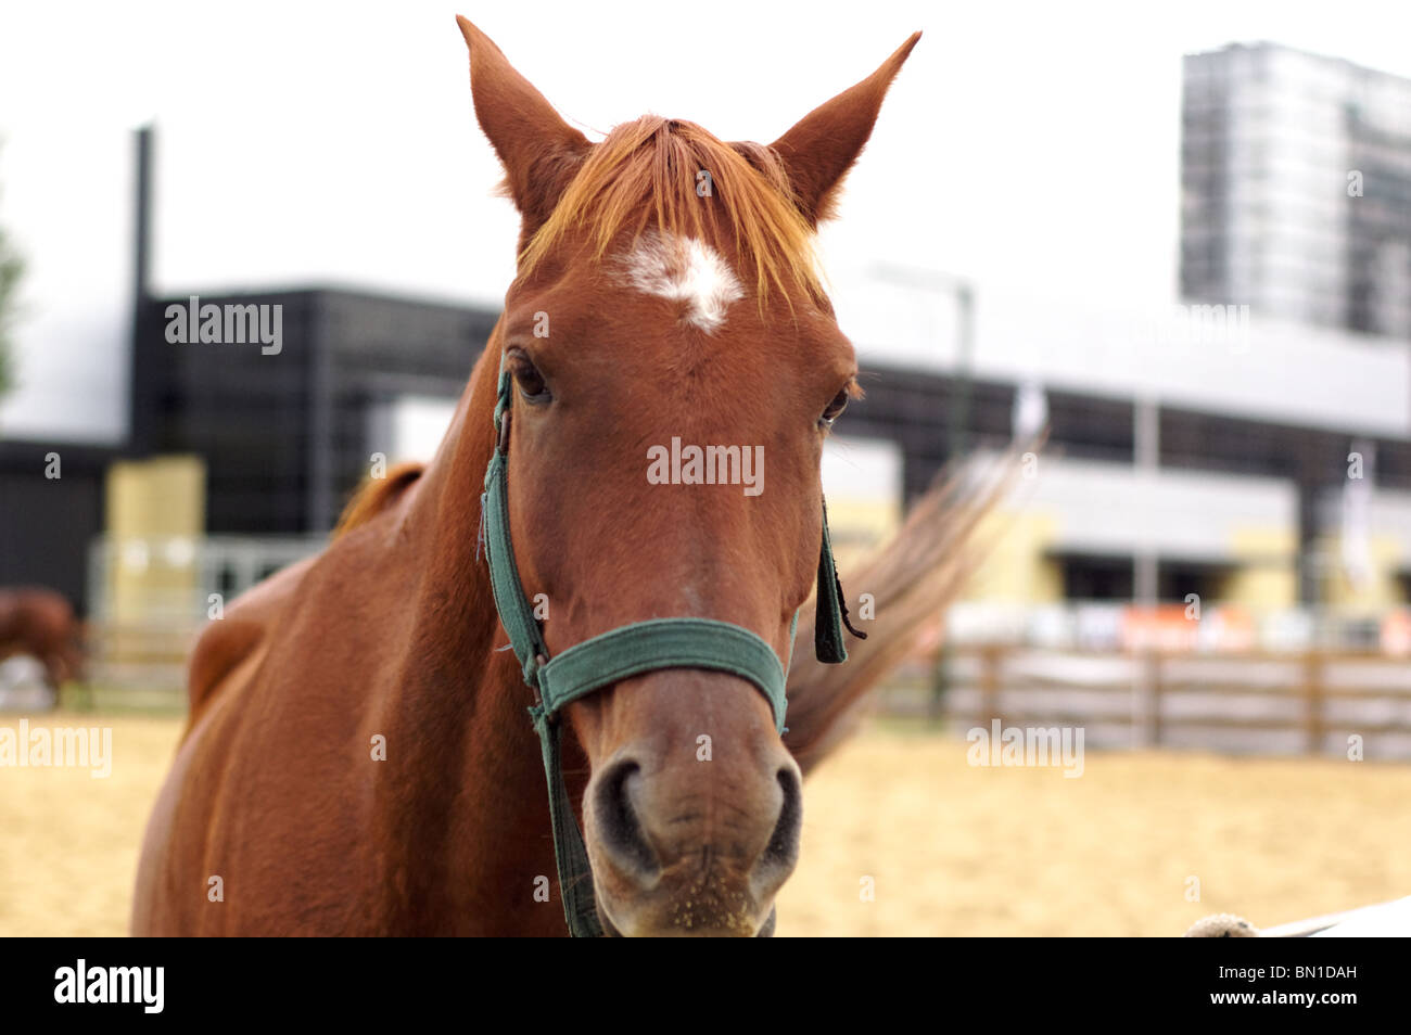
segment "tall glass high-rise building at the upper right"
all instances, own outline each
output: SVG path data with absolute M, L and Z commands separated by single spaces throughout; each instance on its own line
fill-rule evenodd
M 1277 44 L 1185 58 L 1181 292 L 1411 338 L 1411 79 Z

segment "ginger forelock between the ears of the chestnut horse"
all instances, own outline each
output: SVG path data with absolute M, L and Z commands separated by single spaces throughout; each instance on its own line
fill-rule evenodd
M 708 193 L 700 193 L 700 172 Z M 761 307 L 770 285 L 823 299 L 814 231 L 779 154 L 753 142 L 727 144 L 694 123 L 642 116 L 614 128 L 573 176 L 549 219 L 519 255 L 528 276 L 555 244 L 584 230 L 601 261 L 625 230 L 634 240 L 655 216 L 665 233 L 720 245 L 729 241 L 755 275 Z

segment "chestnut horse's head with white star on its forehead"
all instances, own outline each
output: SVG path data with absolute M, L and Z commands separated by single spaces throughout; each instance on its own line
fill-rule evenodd
M 522 216 L 490 353 L 533 635 L 556 657 L 650 619 L 711 619 L 787 670 L 825 536 L 823 441 L 856 393 L 814 234 L 919 34 L 768 147 L 655 116 L 590 142 L 459 21 Z M 803 811 L 758 684 L 659 667 L 560 718 L 591 771 L 583 840 L 602 926 L 768 929 Z

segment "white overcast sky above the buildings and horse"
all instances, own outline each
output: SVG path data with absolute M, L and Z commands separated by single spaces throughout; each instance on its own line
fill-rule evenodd
M 835 295 L 886 261 L 982 295 L 1171 300 L 1182 54 L 1271 39 L 1411 75 L 1404 3 L 0 0 L 0 221 L 30 261 L 0 433 L 124 431 L 144 121 L 159 292 L 498 303 L 516 217 L 457 13 L 590 135 L 658 111 L 766 142 L 924 30 L 824 234 Z

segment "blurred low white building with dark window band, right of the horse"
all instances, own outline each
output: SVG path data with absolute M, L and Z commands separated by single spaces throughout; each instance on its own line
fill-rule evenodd
M 844 326 L 866 327 L 876 305 L 849 293 Z M 1150 557 L 1158 601 L 1197 592 L 1257 611 L 1346 613 L 1404 602 L 1411 343 L 1253 316 L 1191 334 L 1194 310 L 1094 313 L 978 295 L 968 355 L 943 336 L 927 369 L 873 365 L 866 398 L 840 422 L 840 447 L 895 443 L 910 496 L 950 455 L 962 392 L 968 444 L 999 448 L 1020 388 L 1043 385 L 1048 444 L 978 596 L 1132 602 L 1139 558 Z M 883 344 L 865 333 L 858 343 Z M 1370 578 L 1349 572 L 1357 553 L 1370 554 Z

